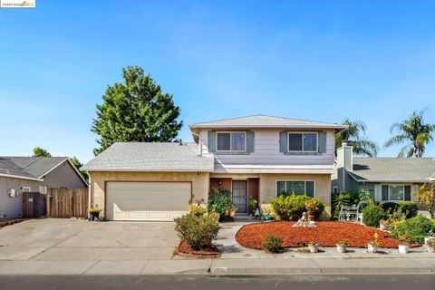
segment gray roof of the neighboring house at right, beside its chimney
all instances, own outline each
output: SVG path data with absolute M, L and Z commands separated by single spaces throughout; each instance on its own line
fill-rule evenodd
M 353 158 L 351 177 L 358 182 L 418 182 L 435 172 L 432 158 Z

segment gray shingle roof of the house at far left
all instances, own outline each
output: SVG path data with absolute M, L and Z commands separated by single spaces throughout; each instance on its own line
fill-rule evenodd
M 0 157 L 0 173 L 24 178 L 41 179 L 49 170 L 68 160 L 67 157 Z M 9 173 L 6 173 L 9 172 Z

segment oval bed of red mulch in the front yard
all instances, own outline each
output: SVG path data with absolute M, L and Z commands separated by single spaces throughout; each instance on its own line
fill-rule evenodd
M 240 228 L 236 234 L 237 242 L 244 247 L 261 249 L 261 241 L 269 235 L 284 237 L 283 247 L 302 247 L 314 241 L 321 247 L 335 247 L 342 239 L 347 239 L 348 247 L 367 247 L 378 233 L 382 247 L 398 247 L 399 241 L 390 237 L 388 232 L 347 222 L 316 222 L 317 227 L 292 227 L 293 221 L 250 224 Z M 419 245 L 411 245 L 418 247 Z

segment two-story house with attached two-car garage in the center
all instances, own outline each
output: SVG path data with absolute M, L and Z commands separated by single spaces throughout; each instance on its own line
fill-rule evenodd
M 323 198 L 330 212 L 334 133 L 346 127 L 264 115 L 190 126 L 194 143 L 115 143 L 83 166 L 91 203 L 109 220 L 171 220 L 189 201 L 228 189 L 237 213 L 249 198 L 285 190 Z

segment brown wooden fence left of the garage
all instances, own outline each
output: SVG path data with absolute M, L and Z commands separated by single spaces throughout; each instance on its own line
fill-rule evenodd
M 48 189 L 47 215 L 50 218 L 87 218 L 88 189 Z

